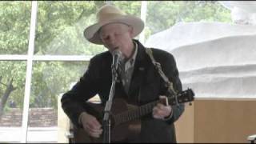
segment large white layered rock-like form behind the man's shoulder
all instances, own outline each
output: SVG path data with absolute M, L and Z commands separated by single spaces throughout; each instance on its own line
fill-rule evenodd
M 178 23 L 152 35 L 146 46 L 174 54 L 183 89 L 192 88 L 195 97 L 256 96 L 256 26 Z

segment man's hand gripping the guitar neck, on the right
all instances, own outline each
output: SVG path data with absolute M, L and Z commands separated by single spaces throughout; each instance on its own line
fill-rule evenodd
M 160 96 L 160 98 L 163 97 Z M 171 112 L 171 106 L 164 106 L 162 103 L 158 103 L 157 106 L 154 106 L 152 114 L 154 118 L 164 119 L 169 117 Z

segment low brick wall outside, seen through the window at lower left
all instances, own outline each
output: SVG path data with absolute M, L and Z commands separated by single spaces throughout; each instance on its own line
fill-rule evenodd
M 53 108 L 30 108 L 29 126 L 57 126 L 58 114 Z M 12 108 L 0 118 L 0 126 L 22 126 L 22 110 Z

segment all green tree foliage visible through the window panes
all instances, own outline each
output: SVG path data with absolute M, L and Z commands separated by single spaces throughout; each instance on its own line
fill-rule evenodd
M 140 1 L 113 1 L 126 14 L 140 17 Z M 83 30 L 94 23 L 104 1 L 38 2 L 34 54 L 94 55 L 106 50 L 87 42 Z M 0 54 L 27 54 L 30 2 L 0 2 Z M 146 38 L 174 26 L 176 22 L 231 22 L 230 11 L 214 1 L 150 1 L 147 4 Z M 30 92 L 31 107 L 56 107 L 57 97 L 70 89 L 86 70 L 88 62 L 34 62 Z M 22 108 L 26 61 L 0 62 L 2 82 L 14 78 L 10 94 Z M 5 86 L 0 84 L 2 96 Z M 9 106 L 9 105 L 7 105 Z

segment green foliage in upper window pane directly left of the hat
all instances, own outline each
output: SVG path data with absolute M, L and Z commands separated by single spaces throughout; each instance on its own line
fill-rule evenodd
M 83 38 L 104 2 L 38 2 L 35 54 L 86 54 L 103 51 Z

